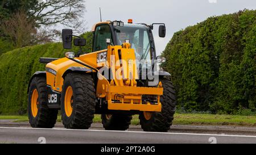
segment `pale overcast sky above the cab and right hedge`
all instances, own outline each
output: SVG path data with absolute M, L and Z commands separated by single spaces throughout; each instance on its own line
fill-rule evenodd
M 230 14 L 243 9 L 256 9 L 256 0 L 85 0 L 88 31 L 102 20 L 133 19 L 134 23 L 166 23 L 167 35 L 158 37 L 154 29 L 156 53 L 164 50 L 174 32 L 195 25 L 209 16 Z

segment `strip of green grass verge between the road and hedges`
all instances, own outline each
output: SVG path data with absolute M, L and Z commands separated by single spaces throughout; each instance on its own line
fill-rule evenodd
M 5 116 L 0 115 L 0 119 L 11 119 L 13 122 L 28 122 L 27 116 Z M 61 116 L 57 118 L 61 122 Z M 101 123 L 101 116 L 95 115 L 94 123 Z M 139 116 L 134 115 L 131 120 L 132 125 L 139 125 Z M 238 125 L 256 126 L 256 116 L 240 115 L 212 115 L 212 114 L 175 114 L 174 125 Z

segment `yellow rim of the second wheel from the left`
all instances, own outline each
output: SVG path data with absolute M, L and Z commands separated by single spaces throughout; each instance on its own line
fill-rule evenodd
M 73 89 L 69 86 L 65 93 L 65 114 L 69 117 L 73 111 Z

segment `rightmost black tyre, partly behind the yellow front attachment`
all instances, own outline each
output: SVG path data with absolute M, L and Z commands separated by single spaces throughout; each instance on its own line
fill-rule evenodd
M 151 118 L 147 120 L 143 112 L 139 115 L 141 127 L 144 131 L 167 132 L 174 120 L 176 97 L 172 82 L 168 79 L 160 79 L 163 85 L 163 95 L 160 97 L 162 112 L 152 112 Z

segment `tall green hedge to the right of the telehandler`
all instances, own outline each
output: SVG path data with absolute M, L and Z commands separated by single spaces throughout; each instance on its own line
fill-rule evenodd
M 256 11 L 210 17 L 176 32 L 162 53 L 184 111 L 255 110 Z

